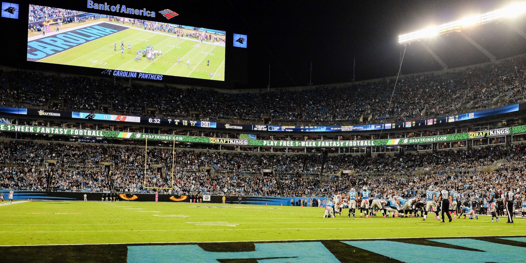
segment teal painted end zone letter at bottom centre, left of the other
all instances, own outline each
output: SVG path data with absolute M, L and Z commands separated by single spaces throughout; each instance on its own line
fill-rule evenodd
M 128 246 L 128 262 L 212 263 L 218 259 L 258 259 L 261 263 L 339 263 L 321 242 L 257 243 L 249 252 L 210 252 L 198 245 Z

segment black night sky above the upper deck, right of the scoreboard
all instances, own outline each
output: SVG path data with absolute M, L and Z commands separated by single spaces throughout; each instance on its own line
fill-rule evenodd
M 404 48 L 398 44 L 399 35 L 470 14 L 490 12 L 511 3 L 482 0 L 227 2 L 230 8 L 234 6 L 235 14 L 241 14 L 237 18 L 242 19 L 234 19 L 236 23 L 248 24 L 247 28 L 251 29 L 247 33 L 249 87 L 258 88 L 267 86 L 268 64 L 272 72 L 271 87 L 307 85 L 310 62 L 313 84 L 350 82 L 353 57 L 356 58 L 356 80 L 396 75 Z M 525 39 L 509 27 L 497 24 L 463 32 L 480 41 L 479 44 L 497 58 L 526 52 Z M 522 20 L 520 27 L 523 25 Z M 495 35 L 495 32 L 504 35 Z M 428 43 L 449 68 L 489 61 L 458 33 L 450 35 Z M 408 46 L 403 74 L 441 68 L 420 43 Z

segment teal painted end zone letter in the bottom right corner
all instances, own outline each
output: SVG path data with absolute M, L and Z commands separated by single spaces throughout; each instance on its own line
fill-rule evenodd
M 473 248 L 480 251 L 460 250 L 453 248 L 431 247 L 423 245 L 407 244 L 396 241 L 342 241 L 345 244 L 365 249 L 376 254 L 384 255 L 407 263 L 420 262 L 451 262 L 452 259 L 464 259 L 469 263 L 501 262 L 520 263 L 524 258 L 519 255 L 526 254 L 526 248 L 502 245 L 488 241 L 451 238 L 451 239 L 428 239 L 461 247 Z

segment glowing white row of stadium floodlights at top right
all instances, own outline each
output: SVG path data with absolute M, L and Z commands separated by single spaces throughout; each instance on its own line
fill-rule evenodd
M 398 36 L 398 43 L 407 45 L 414 41 L 421 41 L 433 36 L 447 34 L 450 32 L 459 32 L 463 28 L 469 28 L 473 26 L 488 24 L 494 21 L 499 21 L 502 18 L 517 17 L 526 13 L 526 2 L 513 4 L 492 12 L 464 17 L 457 21 L 449 22 L 446 24 L 431 26 L 428 28 L 420 29 L 419 31 L 411 32 Z

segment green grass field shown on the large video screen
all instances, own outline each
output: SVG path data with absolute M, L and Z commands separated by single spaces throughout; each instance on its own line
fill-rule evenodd
M 125 43 L 124 55 L 120 53 L 121 41 Z M 115 43 L 117 43 L 117 51 L 114 50 Z M 131 43 L 130 50 L 128 43 Z M 146 48 L 146 45 L 161 49 L 163 55 L 156 56 L 153 62 L 143 56 L 139 60 L 134 60 L 137 50 Z M 180 63 L 177 63 L 178 57 Z M 188 67 L 187 58 L 190 60 Z M 208 66 L 207 60 L 210 60 Z M 124 29 L 40 59 L 38 62 L 225 80 L 224 46 L 200 43 L 139 28 Z

